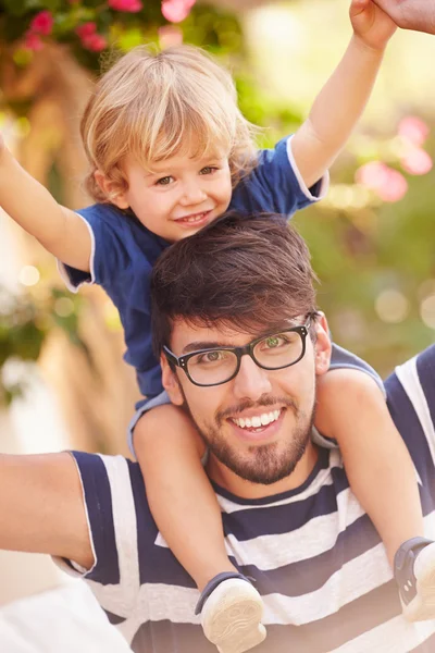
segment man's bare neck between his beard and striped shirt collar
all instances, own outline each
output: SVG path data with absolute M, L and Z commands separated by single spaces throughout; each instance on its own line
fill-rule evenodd
M 299 488 L 308 479 L 318 461 L 318 448 L 310 441 L 294 471 L 271 485 L 246 481 L 222 465 L 212 454 L 207 464 L 207 472 L 212 481 L 240 498 L 263 498 Z

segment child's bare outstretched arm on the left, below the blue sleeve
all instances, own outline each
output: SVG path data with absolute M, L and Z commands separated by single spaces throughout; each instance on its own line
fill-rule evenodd
M 14 159 L 0 136 L 0 206 L 63 263 L 89 272 L 91 238 L 84 220 L 59 205 Z

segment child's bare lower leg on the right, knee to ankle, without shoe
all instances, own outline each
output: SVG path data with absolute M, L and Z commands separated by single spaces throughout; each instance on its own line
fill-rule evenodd
M 380 533 L 390 565 L 423 537 L 415 469 L 385 399 L 368 374 L 334 369 L 319 382 L 315 426 L 340 448 L 350 486 Z

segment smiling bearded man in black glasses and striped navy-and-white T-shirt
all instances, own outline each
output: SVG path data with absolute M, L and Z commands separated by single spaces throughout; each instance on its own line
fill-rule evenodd
M 153 273 L 164 385 L 209 443 L 229 555 L 263 597 L 268 638 L 256 650 L 430 653 L 435 623 L 402 617 L 384 547 L 338 451 L 310 440 L 315 381 L 331 354 L 312 282 L 303 241 L 278 217 L 226 217 L 175 244 Z M 206 358 L 189 356 L 198 349 Z M 197 385 L 206 381 L 213 385 Z M 434 381 L 431 348 L 387 382 L 431 534 Z M 237 423 L 252 406 L 273 412 L 270 445 L 252 446 L 256 433 Z M 137 653 L 215 652 L 194 616 L 198 591 L 160 537 L 134 463 L 0 456 L 0 546 L 49 553 L 82 574 Z

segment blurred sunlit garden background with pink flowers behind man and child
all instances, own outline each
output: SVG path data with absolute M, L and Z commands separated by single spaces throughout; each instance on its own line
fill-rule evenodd
M 86 206 L 78 123 L 96 75 L 113 50 L 184 40 L 232 70 L 244 113 L 263 127 L 259 145 L 273 145 L 303 121 L 343 56 L 348 8 L 348 0 L 0 0 L 0 130 L 60 201 Z M 384 375 L 434 340 L 433 61 L 435 37 L 394 37 L 363 120 L 332 169 L 327 199 L 295 218 L 334 338 Z M 0 451 L 128 455 L 137 390 L 115 309 L 98 288 L 65 291 L 52 258 L 4 213 L 0 235 Z M 59 582 L 44 556 L 35 566 L 34 556 L 2 555 L 0 603 Z

